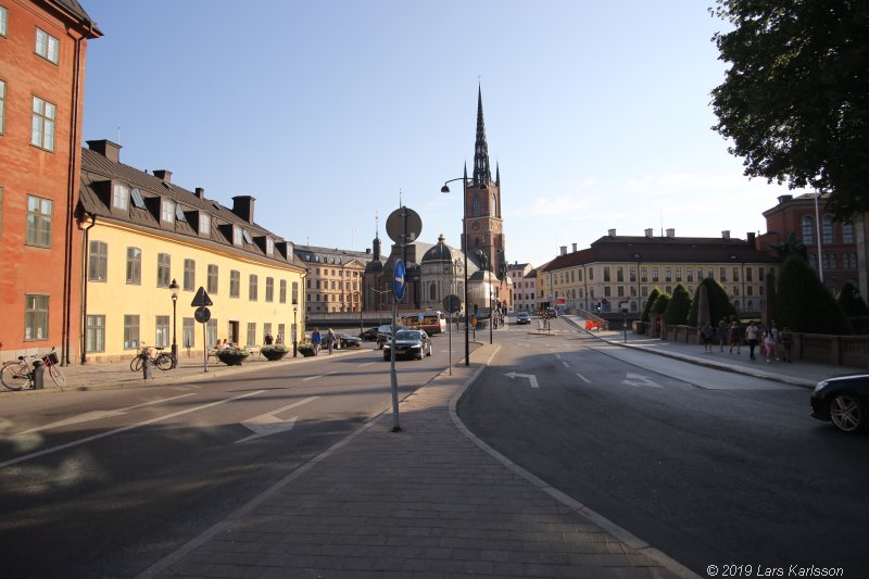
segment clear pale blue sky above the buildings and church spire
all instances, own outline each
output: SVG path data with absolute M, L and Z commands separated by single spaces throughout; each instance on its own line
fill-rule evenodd
M 541 265 L 616 229 L 764 231 L 789 191 L 710 127 L 711 3 L 81 0 L 85 139 L 297 243 L 364 250 L 405 205 L 458 246 L 482 87 L 506 255 Z M 470 169 L 469 169 L 470 171 Z M 387 250 L 388 251 L 388 250 Z

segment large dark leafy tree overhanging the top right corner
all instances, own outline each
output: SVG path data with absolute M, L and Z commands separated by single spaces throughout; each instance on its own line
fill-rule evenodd
M 869 210 L 869 10 L 833 0 L 717 0 L 734 29 L 713 41 L 731 66 L 713 127 L 745 175 L 831 193 L 839 218 Z

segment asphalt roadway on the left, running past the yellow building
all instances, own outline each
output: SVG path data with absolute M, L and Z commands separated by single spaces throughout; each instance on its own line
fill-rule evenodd
M 445 367 L 445 344 L 396 364 L 401 398 Z M 232 379 L 4 399 L 0 575 L 137 575 L 391 408 L 389 368 L 366 345 Z

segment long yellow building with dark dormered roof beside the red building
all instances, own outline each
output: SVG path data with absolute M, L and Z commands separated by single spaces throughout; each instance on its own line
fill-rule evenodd
M 304 330 L 305 267 L 293 244 L 254 223 L 254 199 L 232 207 L 119 162 L 121 147 L 88 141 L 76 216 L 84 236 L 83 362 L 129 358 L 144 343 L 181 358 L 227 339 L 291 344 Z M 173 300 L 173 289 L 177 302 Z M 191 305 L 203 288 L 205 324 Z

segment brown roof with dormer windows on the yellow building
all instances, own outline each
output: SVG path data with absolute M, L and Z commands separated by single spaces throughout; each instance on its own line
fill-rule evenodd
M 130 189 L 138 189 L 144 206 L 136 206 L 134 199 L 130 199 L 127 211 L 113 209 L 113 184 L 123 184 Z M 182 215 L 184 219 L 176 217 L 171 224 L 163 222 L 161 219 L 163 199 L 174 201 L 176 206 L 180 207 L 180 213 L 176 213 L 176 216 Z M 205 199 L 204 194 L 200 197 L 154 175 L 111 161 L 103 154 L 87 148 L 81 149 L 81 178 L 77 213 L 85 221 L 87 221 L 87 216 L 84 214 L 96 215 L 98 221 L 122 222 L 142 230 L 160 230 L 166 237 L 175 239 L 192 238 L 203 246 L 221 247 L 225 251 L 247 257 L 257 257 L 263 262 L 304 267 L 294 256 L 291 241 L 286 241 L 280 236 L 249 223 L 217 201 Z M 211 216 L 209 237 L 199 235 L 202 214 Z M 238 226 L 249 234 L 242 240 L 241 246 L 232 243 L 232 226 Z M 267 238 L 275 242 L 275 251 L 272 256 L 266 255 L 265 240 Z

